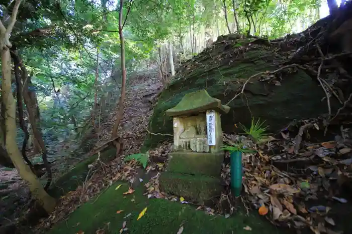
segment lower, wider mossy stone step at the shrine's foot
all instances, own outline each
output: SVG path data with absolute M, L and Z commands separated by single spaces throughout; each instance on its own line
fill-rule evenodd
M 220 176 L 215 178 L 166 171 L 160 175 L 159 183 L 162 191 L 197 202 L 212 200 L 220 196 L 223 190 Z

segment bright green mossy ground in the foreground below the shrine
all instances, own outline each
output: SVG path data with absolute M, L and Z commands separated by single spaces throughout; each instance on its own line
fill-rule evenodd
M 116 190 L 116 187 L 122 186 Z M 148 199 L 143 195 L 141 185 L 136 187 L 135 192 L 129 195 L 122 193 L 128 190 L 126 182 L 116 182 L 98 199 L 85 203 L 73 213 L 67 220 L 58 223 L 48 233 L 83 233 L 94 234 L 100 228 L 105 233 L 120 233 L 124 220 L 128 230 L 123 233 L 177 233 L 180 226 L 184 227 L 182 233 L 236 233 L 236 234 L 276 234 L 285 233 L 270 224 L 265 218 L 258 217 L 256 213 L 245 216 L 237 213 L 225 218 L 220 215 L 208 215 L 204 211 L 196 210 L 194 206 L 181 204 L 177 201 L 164 199 Z M 137 220 L 138 214 L 145 208 L 145 215 Z M 123 210 L 121 213 L 116 213 Z M 127 214 L 131 215 L 124 218 Z M 249 226 L 251 231 L 244 230 Z M 83 231 L 83 232 L 82 232 Z

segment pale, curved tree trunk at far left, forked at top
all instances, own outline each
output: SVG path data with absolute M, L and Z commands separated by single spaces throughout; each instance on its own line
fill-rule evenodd
M 5 126 L 6 126 L 6 149 L 9 156 L 14 163 L 16 169 L 20 173 L 21 177 L 28 182 L 29 189 L 33 196 L 37 199 L 39 204 L 48 212 L 52 212 L 55 208 L 55 199 L 49 196 L 43 189 L 40 181 L 36 175 L 31 171 L 28 165 L 26 165 L 21 157 L 20 150 L 16 142 L 16 109 L 15 100 L 12 96 L 11 89 L 11 55 L 10 48 L 10 33 L 15 25 L 17 12 L 21 0 L 16 0 L 11 20 L 6 29 L 3 23 L 0 23 L 0 48 L 1 48 L 1 62 L 2 62 L 2 74 L 3 74 L 3 102 L 6 107 L 5 112 Z

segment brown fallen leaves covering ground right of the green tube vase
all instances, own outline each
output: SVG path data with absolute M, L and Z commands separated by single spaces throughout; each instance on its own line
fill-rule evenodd
M 315 126 L 315 121 L 307 120 L 305 123 L 314 123 Z M 335 181 L 341 180 L 339 178 L 348 177 L 349 181 L 352 181 L 352 167 L 348 168 L 344 164 L 344 155 L 348 155 L 351 145 L 344 141 L 341 150 L 340 142 L 326 141 L 319 144 L 302 140 L 298 154 L 292 155 L 287 149 L 295 143 L 293 138 L 287 137 L 289 133 L 290 131 L 282 132 L 282 140 L 271 141 L 266 145 L 254 144 L 257 153 L 242 155 L 243 186 L 246 193 L 244 202 L 245 205 L 260 209 L 258 212 L 265 214 L 276 225 L 308 227 L 321 233 L 320 229 L 325 227 L 322 227 L 324 223 L 319 217 L 322 216 L 324 220 L 331 207 L 322 203 L 307 210 L 306 204 L 309 206 L 310 200 L 323 197 L 326 197 L 326 204 L 331 199 L 341 203 L 347 202 L 345 198 L 331 194 L 339 194 L 333 185 Z M 236 135 L 224 134 L 224 143 L 236 142 L 238 138 Z M 273 148 L 277 148 L 277 153 L 268 155 L 268 149 L 274 151 Z M 304 169 L 292 167 L 292 170 L 287 171 L 276 167 L 279 163 L 289 162 L 303 162 L 306 166 Z M 228 164 L 223 164 L 221 177 L 227 185 L 230 184 Z M 266 210 L 262 207 L 269 207 L 268 214 L 263 212 Z M 217 212 L 221 213 L 222 210 Z M 326 217 L 325 221 L 331 225 L 335 224 L 330 217 Z

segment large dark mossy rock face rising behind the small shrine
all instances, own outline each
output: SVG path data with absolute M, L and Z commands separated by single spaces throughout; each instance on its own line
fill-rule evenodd
M 165 111 L 177 105 L 185 94 L 205 89 L 210 96 L 227 104 L 238 94 L 248 78 L 243 95 L 229 102 L 228 114 L 221 116 L 225 133 L 238 131 L 235 124 L 249 127 L 251 117 L 265 120 L 274 133 L 294 119 L 313 118 L 327 113 L 325 94 L 304 70 L 280 69 L 286 59 L 281 51 L 263 39 L 239 39 L 237 35 L 219 37 L 209 48 L 186 62 L 161 92 L 149 131 L 172 134 L 172 118 Z M 144 149 L 156 146 L 169 136 L 149 134 Z

